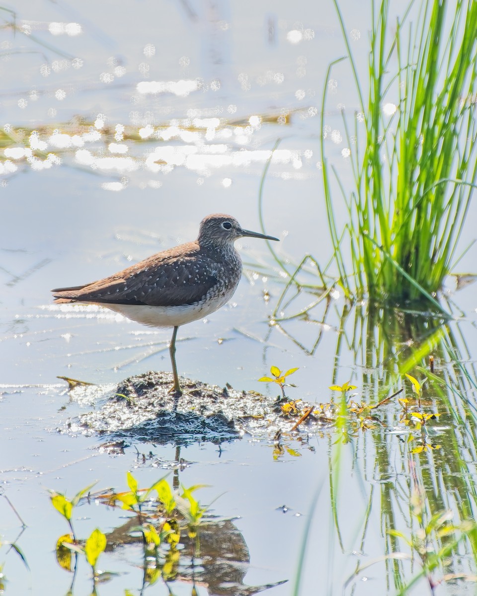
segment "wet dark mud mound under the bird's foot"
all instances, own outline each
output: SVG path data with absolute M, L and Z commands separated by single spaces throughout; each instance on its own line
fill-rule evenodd
M 188 378 L 181 378 L 184 394 L 176 396 L 169 393 L 172 381 L 171 373 L 152 371 L 126 378 L 102 396 L 98 409 L 70 418 L 67 432 L 183 445 L 288 432 L 296 422 L 284 415 L 280 399 Z M 323 423 L 311 414 L 306 425 L 311 430 Z

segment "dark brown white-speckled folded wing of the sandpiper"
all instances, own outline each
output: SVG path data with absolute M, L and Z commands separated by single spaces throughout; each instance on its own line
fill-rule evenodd
M 200 255 L 157 255 L 104 280 L 52 290 L 56 303 L 91 302 L 147 306 L 181 306 L 200 302 L 220 285 L 221 266 Z

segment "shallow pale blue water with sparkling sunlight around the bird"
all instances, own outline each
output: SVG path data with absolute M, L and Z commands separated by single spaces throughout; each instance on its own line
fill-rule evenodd
M 352 23 L 355 50 L 366 64 L 366 11 L 352 2 L 343 6 Z M 8 167 L 13 169 L 13 164 L 16 170 L 0 175 L 4 224 L 0 240 L 1 482 L 2 493 L 27 526 L 17 539 L 21 523 L 8 502 L 0 499 L 0 535 L 7 541 L 17 539 L 31 569 L 25 572 L 15 553 L 2 548 L 0 564 L 5 563 L 9 581 L 5 593 L 64 594 L 69 588 L 71 578 L 54 557 L 55 542 L 67 527 L 51 507 L 47 489 L 72 496 L 97 481 L 97 489 L 126 490 L 127 470 L 134 471 L 140 486 L 150 486 L 173 469 L 179 470 L 184 486 L 208 485 L 197 493 L 200 501 L 213 501 L 213 514 L 234 519 L 250 554 L 249 564 L 241 561 L 246 585 L 288 579 L 271 588 L 270 594 L 291 594 L 303 535 L 310 526 L 301 593 L 315 593 L 318 582 L 326 594 L 340 592 L 343 578 L 352 574 L 358 561 L 364 564 L 383 554 L 380 499 L 388 498 L 386 486 L 399 488 L 410 482 L 399 439 L 384 431 L 382 436 L 368 432 L 343 446 L 340 484 L 337 495 L 330 498 L 329 466 L 337 438 L 333 431 L 283 437 L 289 451 L 278 454 L 274 437 L 266 433 L 220 447 L 197 443 L 181 449 L 184 462 L 179 466 L 174 445 L 137 443 L 111 453 L 99 449 L 97 437 L 58 433 L 67 418 L 94 407 L 94 399 L 81 391 L 70 396 L 58 375 L 106 387 L 128 375 L 169 370 L 170 331 L 142 328 L 101 309 L 60 309 L 51 305 L 49 294 L 52 287 L 105 277 L 193 239 L 207 213 L 231 213 L 244 228 L 259 231 L 258 188 L 267 152 L 278 138 L 282 140 L 264 187 L 266 232 L 280 238 L 278 253 L 292 263 L 306 253 L 327 262 L 331 249 L 318 163 L 317 114 L 327 65 L 343 52 L 332 5 L 241 2 L 239 7 L 223 2 L 217 7 L 187 0 L 160 5 L 137 1 L 118 10 L 116 2 L 86 1 L 78 8 L 67 2 L 41 1 L 20 2 L 14 8 L 18 26 L 30 33 L 13 35 L 4 30 L 3 123 L 14 131 L 38 130 L 39 139 L 48 141 L 49 147 L 37 162 L 10 157 Z M 8 14 L 0 16 L 11 19 Z M 67 27 L 68 23 L 78 23 L 81 32 Z M 68 35 L 68 31 L 78 34 Z M 349 171 L 342 157 L 340 109 L 352 113 L 356 104 L 349 73 L 342 65 L 335 76 L 336 111 L 329 114 L 329 122 L 330 133 L 336 134 L 329 135 L 327 150 L 342 163 L 340 175 L 346 183 Z M 181 83 L 169 86 L 168 92 L 142 92 L 148 88 L 144 83 L 181 80 L 193 82 L 197 89 L 186 94 L 187 86 Z M 290 114 L 287 120 L 284 114 Z M 273 122 L 265 117 L 262 122 L 249 120 L 256 115 L 270 115 Z M 68 123 L 75 116 L 97 122 L 92 129 L 103 138 L 81 137 L 73 142 L 75 131 L 66 124 L 59 134 L 69 134 L 69 139 L 54 138 L 52 130 L 41 129 Z M 206 118 L 223 122 L 215 126 L 195 121 Z M 178 124 L 185 129 L 184 120 L 190 130 L 171 130 Z M 101 122 L 103 128 L 111 127 L 111 135 L 104 133 Z M 125 131 L 116 125 L 125 126 Z M 127 139 L 129 126 L 138 134 L 148 125 L 162 126 L 162 139 Z M 61 142 L 69 146 L 58 147 Z M 110 142 L 125 146 L 127 153 L 112 153 L 118 147 Z M 10 142 L 10 148 L 20 146 L 21 138 Z M 174 162 L 171 155 L 175 156 L 174 166 L 160 163 L 165 161 L 165 146 L 169 165 Z M 49 152 L 61 163 L 51 158 L 49 163 Z M 473 204 L 468 222 L 475 221 L 475 211 Z M 474 235 L 469 224 L 462 249 Z M 292 319 L 283 327 L 271 328 L 268 317 L 283 290 L 283 283 L 272 277 L 280 277 L 280 271 L 261 240 L 240 244 L 249 266 L 231 303 L 207 320 L 179 329 L 180 374 L 275 395 L 275 389 L 258 383 L 258 378 L 268 374 L 271 365 L 283 370 L 299 367 L 290 379 L 298 387 L 290 388 L 288 395 L 318 403 L 330 400 L 331 384 L 349 379 L 362 383 L 358 392 L 366 399 L 376 395 L 376 386 L 386 387 L 381 362 L 370 367 L 347 345 L 352 344 L 354 322 L 348 319 L 340 330 L 339 296 L 334 296 L 324 321 L 322 303 L 312 311 L 318 322 Z M 259 274 L 253 272 L 258 270 Z M 461 260 L 459 270 L 475 270 L 472 251 Z M 452 278 L 448 287 L 458 305 L 453 312 L 460 319 L 459 328 L 455 322 L 451 327 L 456 336 L 461 331 L 469 356 L 464 349 L 461 355 L 472 364 L 477 348 L 475 290 L 469 285 L 454 294 Z M 284 310 L 291 314 L 293 308 L 298 311 L 298 305 L 303 308 L 314 300 L 315 296 L 300 296 Z M 337 342 L 343 337 L 346 341 L 337 356 Z M 404 333 L 397 343 L 404 345 L 410 339 Z M 390 421 L 392 412 L 386 414 Z M 445 438 L 439 440 L 444 444 Z M 375 448 L 389 453 L 387 468 L 376 463 Z M 444 455 L 452 453 L 451 442 L 446 449 Z M 432 454 L 427 457 L 430 471 L 440 465 Z M 464 459 L 473 472 L 472 452 Z M 455 473 L 462 474 L 461 470 Z M 320 487 L 312 512 L 312 499 Z M 333 499 L 339 505 L 342 545 L 333 519 Z M 453 507 L 448 501 L 446 506 Z M 395 505 L 397 511 L 398 505 L 402 503 Z M 122 513 L 98 502 L 82 504 L 76 514 L 75 526 L 82 537 L 94 527 L 107 532 L 123 522 Z M 402 512 L 396 515 L 404 531 L 407 517 Z M 210 569 L 219 563 L 210 564 Z M 137 547 L 104 554 L 101 569 L 126 575 L 99 585 L 98 594 L 125 589 L 139 594 L 140 565 Z M 175 594 L 191 593 L 189 572 L 174 583 Z M 412 570 L 407 569 L 407 574 L 413 575 Z M 353 585 L 354 594 L 368 593 L 370 586 L 376 594 L 394 593 L 386 582 L 385 567 L 378 564 L 358 575 L 345 593 L 351 593 Z M 88 589 L 91 579 L 83 564 L 74 593 L 86 594 Z M 445 589 L 451 593 L 452 588 Z M 462 585 L 459 589 L 463 593 Z M 202 584 L 197 590 L 200 595 L 216 593 L 207 592 Z M 168 593 L 165 585 L 156 591 Z M 229 593 L 235 592 L 230 588 Z

